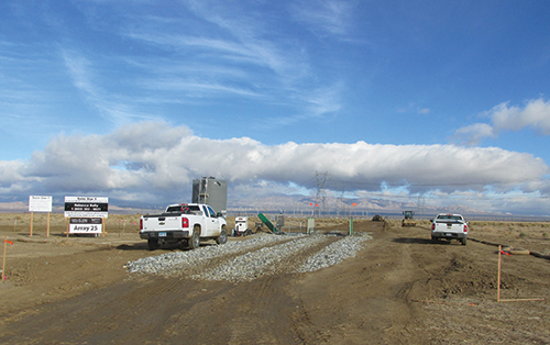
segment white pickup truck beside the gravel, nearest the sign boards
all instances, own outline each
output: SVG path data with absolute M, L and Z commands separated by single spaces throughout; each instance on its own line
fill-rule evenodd
M 221 213 L 201 203 L 170 204 L 162 214 L 145 214 L 140 219 L 140 237 L 147 240 L 150 251 L 163 243 L 184 242 L 198 248 L 200 240 L 228 242 L 227 222 Z

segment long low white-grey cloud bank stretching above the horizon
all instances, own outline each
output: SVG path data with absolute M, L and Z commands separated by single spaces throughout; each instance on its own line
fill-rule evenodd
M 4 194 L 101 193 L 145 204 L 190 199 L 191 180 L 227 179 L 230 198 L 315 190 L 328 171 L 346 192 L 405 187 L 439 190 L 549 192 L 548 166 L 529 154 L 454 145 L 296 144 L 266 146 L 248 137 L 210 140 L 164 122 L 127 125 L 107 135 L 59 135 L 30 162 L 0 162 Z M 332 186 L 332 185 L 331 185 Z M 331 188 L 331 186 L 327 186 Z M 403 188 L 400 188 L 403 193 Z M 23 197 L 21 197 L 23 198 Z

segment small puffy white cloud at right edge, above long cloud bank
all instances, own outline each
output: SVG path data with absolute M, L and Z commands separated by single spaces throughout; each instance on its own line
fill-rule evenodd
M 477 145 L 486 137 L 496 137 L 505 131 L 532 129 L 542 135 L 550 135 L 550 101 L 542 98 L 530 100 L 524 108 L 508 107 L 508 102 L 493 107 L 484 116 L 491 119 L 492 125 L 475 123 L 454 132 L 452 141 L 466 145 Z

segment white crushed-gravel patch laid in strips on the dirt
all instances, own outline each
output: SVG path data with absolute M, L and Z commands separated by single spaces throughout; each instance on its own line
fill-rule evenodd
M 371 238 L 369 235 L 345 236 L 308 257 L 308 249 L 311 252 L 312 247 L 330 241 L 330 236 L 262 234 L 245 241 L 231 241 L 224 245 L 144 257 L 128 263 L 125 267 L 129 272 L 160 275 L 185 274 L 191 269 L 195 272 L 200 271 L 191 275 L 194 279 L 249 281 L 279 271 L 306 272 L 337 265 L 355 256 L 364 242 Z M 286 243 L 278 244 L 285 241 Z M 222 256 L 229 258 L 223 261 Z M 219 265 L 216 264 L 217 258 L 221 258 Z M 212 264 L 215 266 L 208 267 Z M 205 269 L 200 270 L 201 267 Z

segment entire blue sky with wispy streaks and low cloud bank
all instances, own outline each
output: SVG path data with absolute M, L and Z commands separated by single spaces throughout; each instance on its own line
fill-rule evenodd
M 0 210 L 29 196 L 161 208 L 213 176 L 230 208 L 549 215 L 548 13 L 4 0 Z

